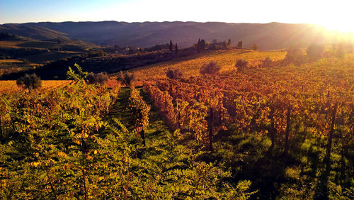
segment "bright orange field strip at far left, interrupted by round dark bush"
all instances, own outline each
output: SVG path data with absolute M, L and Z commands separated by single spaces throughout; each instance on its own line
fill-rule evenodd
M 53 89 L 64 87 L 71 84 L 72 81 L 42 81 L 42 89 Z M 16 85 L 16 81 L 0 81 L 0 94 L 9 94 L 21 90 L 21 87 Z

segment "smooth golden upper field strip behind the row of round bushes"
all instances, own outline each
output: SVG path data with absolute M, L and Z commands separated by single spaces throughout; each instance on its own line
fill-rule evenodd
M 165 78 L 169 67 L 173 69 L 180 69 L 187 76 L 194 76 L 199 74 L 200 67 L 203 64 L 215 61 L 222 66 L 222 71 L 234 69 L 237 60 L 244 59 L 249 61 L 249 65 L 257 65 L 259 60 L 264 60 L 265 57 L 270 57 L 271 60 L 282 60 L 286 52 L 258 52 L 249 50 L 216 50 L 213 52 L 206 52 L 201 57 L 196 57 L 190 60 L 169 61 L 149 65 L 147 67 L 140 67 L 134 71 L 138 79 L 154 79 Z

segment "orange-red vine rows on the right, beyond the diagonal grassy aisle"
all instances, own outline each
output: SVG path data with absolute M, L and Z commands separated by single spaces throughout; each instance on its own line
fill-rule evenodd
M 259 58 L 261 54 L 253 63 L 262 62 Z M 198 74 L 200 63 L 193 60 L 190 65 L 169 65 L 187 71 L 179 79 L 152 71 L 157 80 L 144 88 L 170 128 L 180 130 L 183 138 L 193 138 L 198 149 L 214 152 L 214 162 L 231 168 L 235 177 L 251 179 L 264 198 L 345 198 L 353 195 L 353 60 L 351 54 L 303 65 L 251 64 L 246 72 L 232 69 L 227 64 L 232 60 L 227 60 L 219 61 L 219 74 L 198 76 L 189 73 Z M 272 165 L 274 169 L 267 168 Z M 277 194 L 264 194 L 275 191 L 274 182 L 282 182 Z

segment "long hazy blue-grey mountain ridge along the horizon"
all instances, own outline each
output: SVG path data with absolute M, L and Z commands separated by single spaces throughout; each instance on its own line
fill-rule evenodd
M 338 43 L 341 36 L 321 26 L 290 23 L 222 23 L 222 22 L 40 22 L 0 25 L 6 32 L 40 40 L 79 39 L 97 45 L 136 45 L 178 43 L 190 46 L 198 38 L 210 42 L 231 39 L 234 45 L 243 40 L 245 48 L 256 43 L 261 50 L 305 47 L 311 43 Z M 353 35 L 352 35 L 353 36 Z

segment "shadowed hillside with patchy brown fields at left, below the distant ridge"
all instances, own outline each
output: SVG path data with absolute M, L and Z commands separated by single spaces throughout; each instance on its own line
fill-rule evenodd
M 35 40 L 10 33 L 0 33 L 0 76 L 33 70 L 49 62 L 83 55 L 97 49 L 81 40 Z

